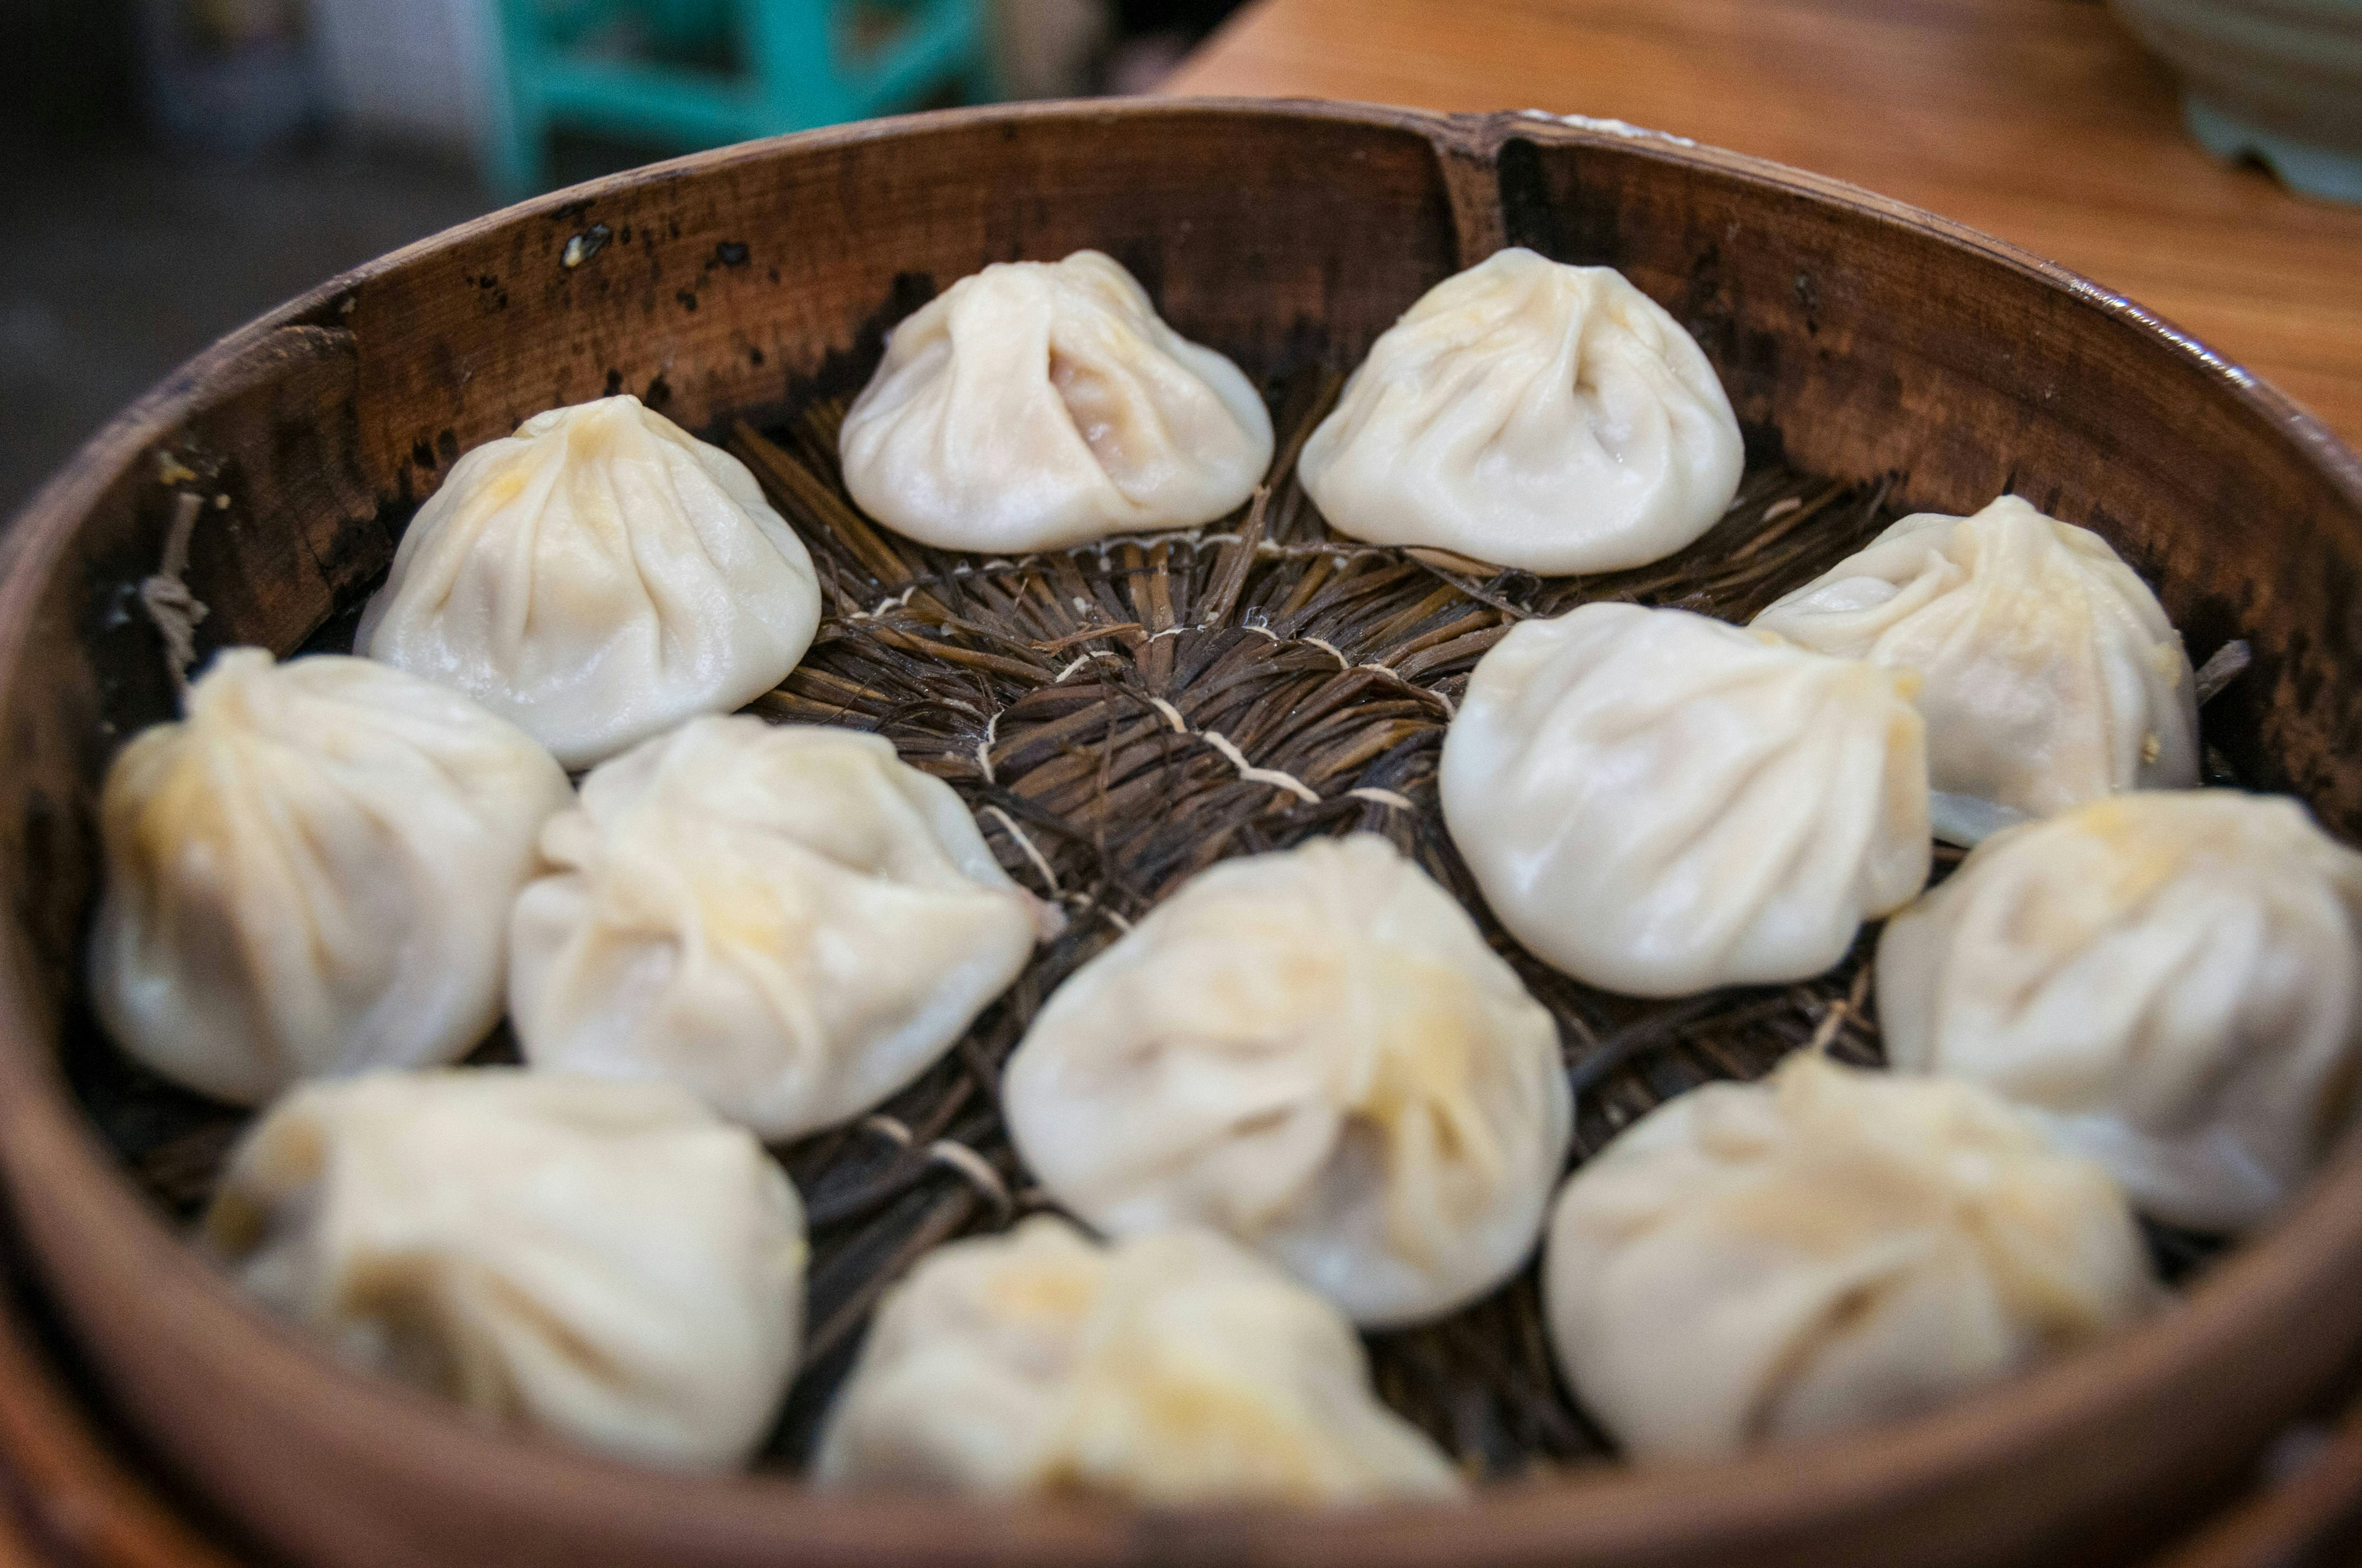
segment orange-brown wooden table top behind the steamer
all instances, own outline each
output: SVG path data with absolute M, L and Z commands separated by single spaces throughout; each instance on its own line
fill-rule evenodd
M 1852 179 L 2097 279 L 2362 446 L 2362 208 L 2206 158 L 2090 0 L 1259 0 L 1164 92 L 1585 113 Z

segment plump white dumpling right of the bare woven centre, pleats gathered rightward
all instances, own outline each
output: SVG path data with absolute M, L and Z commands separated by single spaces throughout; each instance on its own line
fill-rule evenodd
M 1913 675 L 1682 609 L 1521 621 L 1443 737 L 1500 923 L 1635 997 L 1816 975 L 1927 881 Z

